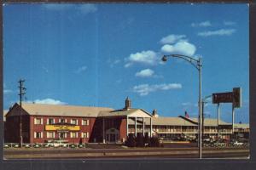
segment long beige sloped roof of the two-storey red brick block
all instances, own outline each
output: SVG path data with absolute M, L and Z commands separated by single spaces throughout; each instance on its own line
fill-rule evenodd
M 29 115 L 38 116 L 88 116 L 96 117 L 101 111 L 113 111 L 108 107 L 84 107 L 76 105 L 22 104 Z

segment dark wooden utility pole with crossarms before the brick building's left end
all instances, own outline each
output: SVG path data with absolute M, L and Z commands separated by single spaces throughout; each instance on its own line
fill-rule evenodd
M 19 81 L 19 87 L 20 88 L 20 94 L 18 94 L 20 96 L 20 148 L 22 147 L 22 143 L 23 143 L 23 139 L 22 139 L 22 116 L 21 116 L 21 110 L 22 110 L 22 99 L 24 94 L 26 94 L 26 88 L 23 87 L 23 83 L 25 82 L 25 80 L 20 79 Z

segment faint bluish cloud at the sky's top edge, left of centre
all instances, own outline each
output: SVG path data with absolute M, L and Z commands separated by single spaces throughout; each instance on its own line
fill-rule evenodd
M 97 11 L 97 7 L 95 4 L 68 4 L 68 3 L 46 3 L 43 4 L 43 7 L 52 10 L 52 11 L 63 11 L 71 8 L 76 9 L 79 14 L 89 14 L 95 13 Z

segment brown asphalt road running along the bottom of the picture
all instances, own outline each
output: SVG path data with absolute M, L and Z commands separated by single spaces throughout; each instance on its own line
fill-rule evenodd
M 246 148 L 203 148 L 203 158 L 247 158 Z M 145 159 L 145 158 L 197 158 L 197 148 L 145 148 L 145 149 L 8 149 L 5 159 L 65 160 L 65 159 Z

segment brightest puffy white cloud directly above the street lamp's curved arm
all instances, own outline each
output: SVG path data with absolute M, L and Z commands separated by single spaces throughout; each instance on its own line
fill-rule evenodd
M 161 48 L 161 51 L 164 53 L 177 53 L 190 56 L 195 54 L 195 50 L 195 45 L 186 41 L 177 42 L 174 45 L 166 44 Z

